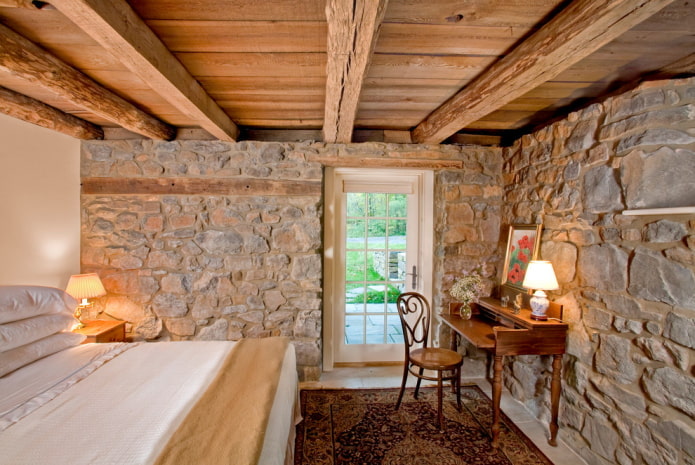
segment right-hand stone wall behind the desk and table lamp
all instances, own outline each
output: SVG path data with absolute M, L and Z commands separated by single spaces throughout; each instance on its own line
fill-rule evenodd
M 561 438 L 590 464 L 695 463 L 695 79 L 643 84 L 505 152 L 502 221 L 542 222 L 570 323 Z M 550 361 L 507 387 L 549 418 Z

